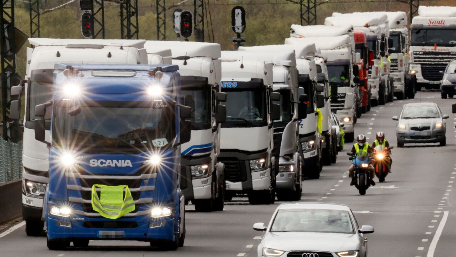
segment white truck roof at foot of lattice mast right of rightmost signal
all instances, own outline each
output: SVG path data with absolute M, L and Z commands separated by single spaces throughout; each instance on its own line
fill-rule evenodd
M 353 31 L 351 24 L 342 26 L 312 25 L 301 26 L 291 25 L 290 37 L 337 37 Z

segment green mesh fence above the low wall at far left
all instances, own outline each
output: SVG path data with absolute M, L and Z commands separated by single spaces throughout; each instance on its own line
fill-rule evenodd
M 7 142 L 0 137 L 0 184 L 22 178 L 22 141 Z

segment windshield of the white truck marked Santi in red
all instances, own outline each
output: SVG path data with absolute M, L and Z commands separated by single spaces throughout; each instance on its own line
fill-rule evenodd
M 455 46 L 455 28 L 422 28 L 412 29 L 411 45 L 415 46 Z

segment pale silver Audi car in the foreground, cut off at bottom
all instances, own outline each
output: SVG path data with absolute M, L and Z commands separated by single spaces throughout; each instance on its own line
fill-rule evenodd
M 347 205 L 334 203 L 283 203 L 258 245 L 259 257 L 367 257 L 367 238 L 372 226 L 361 229 Z

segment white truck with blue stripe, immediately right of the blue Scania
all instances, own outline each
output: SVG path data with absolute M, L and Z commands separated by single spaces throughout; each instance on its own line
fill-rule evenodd
M 223 210 L 225 177 L 220 153 L 220 123 L 226 110 L 219 103 L 222 60 L 217 43 L 147 41 L 147 54 L 166 55 L 171 49 L 172 64 L 179 65 L 181 95 L 184 104 L 192 107 L 192 135 L 181 146 L 181 189 L 186 202 L 192 201 L 196 211 Z M 161 49 L 164 50 L 161 50 Z M 155 63 L 153 63 L 155 64 Z

